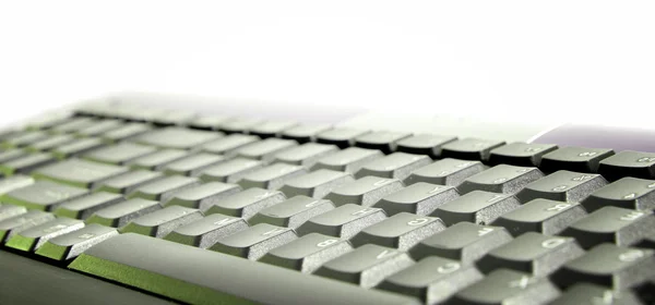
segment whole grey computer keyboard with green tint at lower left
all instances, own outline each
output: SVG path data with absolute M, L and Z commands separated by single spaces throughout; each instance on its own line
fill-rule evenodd
M 655 304 L 653 152 L 136 109 L 1 133 L 1 304 Z

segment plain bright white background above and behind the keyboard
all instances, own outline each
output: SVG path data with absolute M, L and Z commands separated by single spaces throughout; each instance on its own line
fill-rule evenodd
M 0 111 L 136 90 L 654 125 L 651 3 L 3 1 Z

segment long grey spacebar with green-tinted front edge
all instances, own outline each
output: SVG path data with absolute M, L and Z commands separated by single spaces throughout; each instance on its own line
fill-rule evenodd
M 417 300 L 128 233 L 69 268 L 191 304 L 419 304 Z

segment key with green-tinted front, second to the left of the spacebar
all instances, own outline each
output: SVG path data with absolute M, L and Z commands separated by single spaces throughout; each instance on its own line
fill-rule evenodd
M 82 220 L 70 218 L 52 219 L 48 222 L 17 232 L 7 241 L 7 246 L 23 252 L 35 252 L 47 241 L 84 228 Z

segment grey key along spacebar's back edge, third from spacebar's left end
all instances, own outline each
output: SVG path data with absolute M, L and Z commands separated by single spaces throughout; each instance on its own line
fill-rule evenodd
M 260 223 L 219 240 L 211 251 L 258 260 L 271 249 L 297 239 L 294 230 Z

